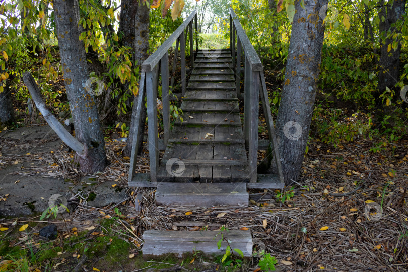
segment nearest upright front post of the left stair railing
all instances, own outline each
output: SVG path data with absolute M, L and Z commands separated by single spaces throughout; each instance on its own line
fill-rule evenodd
M 157 64 L 159 65 L 159 64 Z M 152 71 L 146 72 L 146 100 L 149 126 L 149 157 L 150 157 L 150 180 L 157 182 L 159 168 L 159 144 L 157 135 L 157 66 Z

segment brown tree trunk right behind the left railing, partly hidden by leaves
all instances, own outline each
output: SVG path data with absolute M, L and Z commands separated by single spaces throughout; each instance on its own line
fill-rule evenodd
M 125 0 L 124 2 L 125 3 L 129 2 L 129 4 L 135 6 L 134 11 L 132 13 L 123 15 L 123 17 L 121 14 L 120 19 L 121 19 L 121 25 L 125 25 L 122 20 L 130 20 L 131 25 L 127 26 L 128 29 L 126 30 L 124 29 L 123 31 L 126 31 L 127 33 L 129 33 L 129 35 L 132 35 L 133 37 L 133 39 L 127 42 L 132 41 L 132 44 L 134 47 L 133 57 L 134 57 L 135 65 L 140 66 L 142 65 L 143 61 L 145 61 L 145 59 L 148 57 L 150 4 L 149 4 L 149 1 L 146 1 L 145 3 L 141 3 L 141 1 L 134 2 L 134 1 Z M 123 5 L 123 1 L 122 1 L 122 5 Z M 137 97 L 134 97 L 133 109 L 135 109 L 134 104 L 136 100 L 137 100 Z M 142 118 L 139 124 L 139 127 L 141 129 L 139 129 L 139 131 L 135 131 L 135 128 L 137 127 L 136 125 L 137 119 L 136 119 L 136 112 L 132 110 L 132 117 L 131 117 L 130 128 L 129 128 L 129 137 L 127 140 L 126 147 L 124 149 L 124 154 L 126 156 L 131 155 L 132 139 L 135 133 L 139 133 L 139 139 L 141 139 L 138 143 L 138 153 L 142 151 L 143 134 L 145 131 L 145 122 L 146 122 L 146 107 L 145 107 L 145 104 L 143 104 Z

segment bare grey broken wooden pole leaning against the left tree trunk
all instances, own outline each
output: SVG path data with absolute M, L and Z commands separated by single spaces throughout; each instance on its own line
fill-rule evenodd
M 28 90 L 30 91 L 31 97 L 34 100 L 35 105 L 38 110 L 41 112 L 44 119 L 47 121 L 48 125 L 52 130 L 57 133 L 59 138 L 67 144 L 70 148 L 76 151 L 80 156 L 85 154 L 85 146 L 73 137 L 63 125 L 55 118 L 55 116 L 49 111 L 46 107 L 44 100 L 42 100 L 40 89 L 38 88 L 35 79 L 30 72 L 26 72 L 23 75 L 24 83 L 27 85 Z

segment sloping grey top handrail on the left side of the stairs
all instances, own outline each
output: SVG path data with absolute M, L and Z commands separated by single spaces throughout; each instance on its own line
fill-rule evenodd
M 197 14 L 197 10 L 193 10 L 193 12 L 187 17 L 186 20 L 167 38 L 167 40 L 160 45 L 160 47 L 151 54 L 148 59 L 146 59 L 142 63 L 142 70 L 146 72 L 151 72 L 153 68 L 160 62 L 165 54 L 169 51 L 170 47 L 173 43 L 178 39 L 178 37 L 184 32 L 186 27 L 189 25 L 190 22 L 194 19 L 194 16 Z

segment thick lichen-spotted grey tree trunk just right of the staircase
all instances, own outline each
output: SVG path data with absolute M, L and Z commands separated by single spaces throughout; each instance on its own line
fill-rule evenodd
M 278 146 L 285 184 L 296 181 L 312 121 L 324 38 L 320 9 L 328 0 L 295 1 L 296 13 L 277 118 Z

